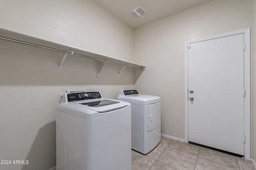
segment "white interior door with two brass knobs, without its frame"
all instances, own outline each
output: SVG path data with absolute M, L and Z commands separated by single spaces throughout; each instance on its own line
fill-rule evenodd
M 244 34 L 190 44 L 188 141 L 244 155 Z

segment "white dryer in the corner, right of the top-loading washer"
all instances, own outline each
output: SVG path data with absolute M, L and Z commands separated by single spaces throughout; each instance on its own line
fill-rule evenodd
M 147 154 L 161 141 L 161 98 L 120 90 L 117 99 L 132 104 L 132 149 Z

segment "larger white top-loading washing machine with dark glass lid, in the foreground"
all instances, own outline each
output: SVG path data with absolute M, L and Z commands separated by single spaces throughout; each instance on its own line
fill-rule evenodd
M 100 92 L 64 94 L 56 145 L 57 170 L 131 170 L 131 104 Z

